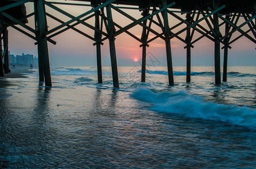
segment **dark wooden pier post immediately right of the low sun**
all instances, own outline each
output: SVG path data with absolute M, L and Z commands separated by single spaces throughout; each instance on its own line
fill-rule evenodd
M 146 17 L 148 15 L 148 9 L 142 12 L 142 16 Z M 147 25 L 147 20 L 143 21 L 143 25 Z M 142 82 L 146 81 L 146 55 L 147 55 L 147 29 L 143 27 L 142 29 Z

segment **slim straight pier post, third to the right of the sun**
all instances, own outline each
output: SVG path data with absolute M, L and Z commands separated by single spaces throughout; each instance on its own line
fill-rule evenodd
M 186 15 L 187 22 L 191 24 L 190 13 Z M 188 25 L 187 25 L 188 26 Z M 187 42 L 187 72 L 186 72 L 186 82 L 190 82 L 190 73 L 191 73 L 191 33 L 190 28 L 187 29 L 186 42 Z

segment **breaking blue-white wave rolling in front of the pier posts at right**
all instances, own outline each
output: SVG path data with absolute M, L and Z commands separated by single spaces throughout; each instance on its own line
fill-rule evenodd
M 147 87 L 138 87 L 133 97 L 151 103 L 151 110 L 164 113 L 179 113 L 191 118 L 212 119 L 229 122 L 256 130 L 256 109 L 234 105 L 206 102 L 200 96 L 176 93 L 152 92 Z

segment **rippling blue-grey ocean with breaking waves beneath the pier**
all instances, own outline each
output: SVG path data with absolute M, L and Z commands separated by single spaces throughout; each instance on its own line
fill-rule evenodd
M 37 71 L 36 69 L 33 69 Z M 256 67 L 52 67 L 0 89 L 0 168 L 255 168 Z

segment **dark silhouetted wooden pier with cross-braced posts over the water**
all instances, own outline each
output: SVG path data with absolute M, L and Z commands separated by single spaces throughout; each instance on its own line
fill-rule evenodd
M 26 14 L 25 3 L 33 3 L 34 11 Z M 91 9 L 83 12 L 78 16 L 73 16 L 62 10 L 58 5 L 67 6 L 89 6 Z M 63 21 L 58 16 L 53 16 L 46 11 L 45 6 L 59 12 L 70 18 L 69 21 Z M 112 17 L 112 11 L 132 20 L 133 23 L 126 26 L 120 26 Z M 135 19 L 127 14 L 125 10 L 142 11 L 142 17 Z M 181 15 L 180 15 L 181 14 Z M 48 30 L 47 17 L 56 20 L 59 25 Z M 35 27 L 28 26 L 28 17 L 34 17 Z M 92 17 L 95 18 L 95 24 L 89 24 L 87 21 Z M 180 22 L 176 25 L 170 25 L 169 19 L 176 18 Z M 193 44 L 200 39 L 206 37 L 214 42 L 215 52 L 215 83 L 221 83 L 221 66 L 220 66 L 220 48 L 224 48 L 223 62 L 223 81 L 227 81 L 227 59 L 228 48 L 231 44 L 241 37 L 246 37 L 256 44 L 256 2 L 254 0 L 96 0 L 96 1 L 57 1 L 50 2 L 44 0 L 20 0 L 20 1 L 1 1 L 0 4 L 0 26 L 1 26 L 1 63 L 0 76 L 9 72 L 8 69 L 8 31 L 7 27 L 22 32 L 28 37 L 36 41 L 39 56 L 39 81 L 45 82 L 45 86 L 52 86 L 50 75 L 50 64 L 48 54 L 48 42 L 56 44 L 52 39 L 58 34 L 72 29 L 84 37 L 91 39 L 96 46 L 98 82 L 103 83 L 101 70 L 101 45 L 108 39 L 110 60 L 112 66 L 113 86 L 119 87 L 117 56 L 115 38 L 127 33 L 142 45 L 142 82 L 146 79 L 146 50 L 150 42 L 157 38 L 161 38 L 165 42 L 168 66 L 169 85 L 174 84 L 172 52 L 170 40 L 177 38 L 184 42 L 186 48 L 187 74 L 186 82 L 190 82 L 190 65 L 191 65 L 191 48 Z M 204 24 L 202 24 L 204 23 Z M 239 23 L 239 24 L 238 24 Z M 82 24 L 94 31 L 94 34 L 88 34 L 79 30 L 75 26 Z M 161 32 L 157 32 L 152 28 L 152 24 L 159 26 Z M 19 26 L 16 26 L 19 25 Z M 143 27 L 141 37 L 137 37 L 129 32 L 129 29 L 136 25 Z M 185 25 L 185 26 L 184 26 Z M 247 25 L 247 26 L 245 26 Z M 22 26 L 22 28 L 20 28 Z M 183 26 L 183 27 L 182 27 Z M 224 32 L 220 27 L 225 26 Z M 179 29 L 178 29 L 179 28 Z M 248 30 L 244 30 L 244 29 Z M 176 29 L 176 32 L 174 32 Z M 177 31 L 178 29 L 178 31 Z M 194 37 L 195 32 L 199 33 L 199 37 Z M 235 32 L 238 32 L 234 34 Z M 181 34 L 186 33 L 186 37 L 182 38 Z M 149 38 L 149 34 L 153 34 L 153 38 Z M 233 39 L 232 39 L 233 36 Z M 234 37 L 236 36 L 236 37 Z M 2 41 L 3 39 L 3 41 Z M 2 42 L 4 55 L 2 56 Z M 4 60 L 4 65 L 3 60 Z

